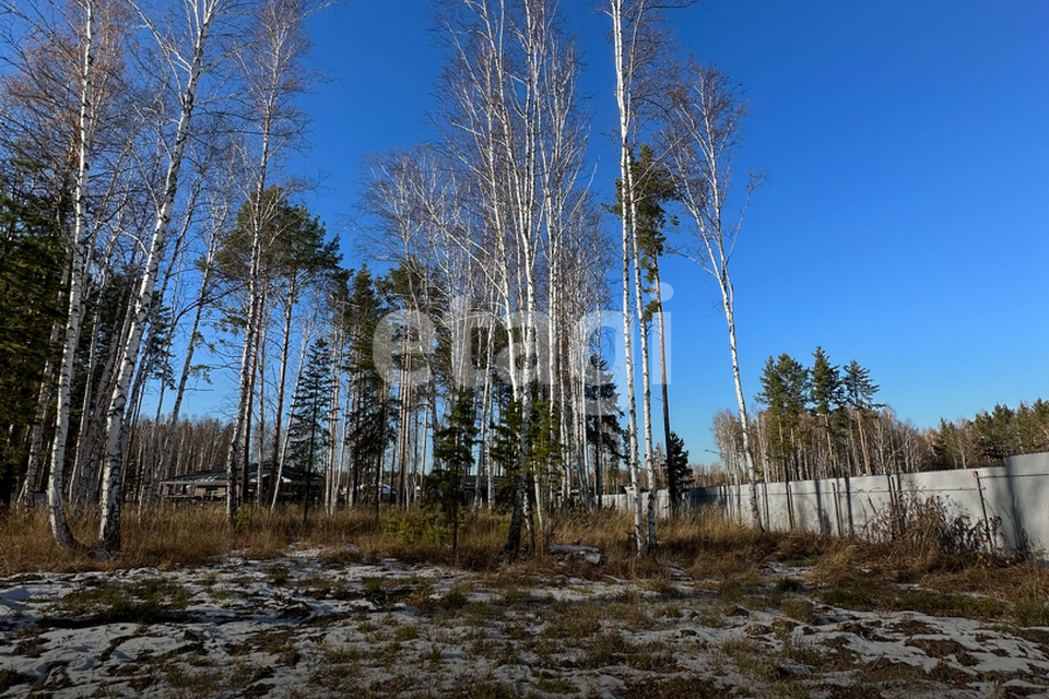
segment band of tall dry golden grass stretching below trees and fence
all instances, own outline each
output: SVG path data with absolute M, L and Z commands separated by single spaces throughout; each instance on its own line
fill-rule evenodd
M 810 566 L 809 581 L 828 588 L 827 594 L 854 599 L 883 584 L 918 582 L 943 593 L 973 592 L 1010 603 L 1013 618 L 1024 625 L 1049 624 L 1049 569 L 1029 561 L 965 550 L 943 542 L 943 528 L 933 513 L 911 521 L 918 531 L 905 531 L 880 542 L 822 537 L 808 533 L 757 532 L 728 522 L 715 511 L 702 511 L 659 522 L 660 546 L 655 557 L 633 552 L 630 512 L 573 511 L 558 516 L 552 543 L 596 546 L 604 562 L 565 560 L 538 552 L 512 566 L 500 558 L 507 517 L 479 513 L 465 517 L 460 529 L 458 561 L 450 532 L 443 521 L 421 509 L 311 512 L 304 526 L 295 508 L 270 511 L 246 509 L 235 526 L 226 525 L 222 507 L 162 507 L 140 519 L 133 509 L 123 516 L 123 552 L 102 558 L 90 552 L 63 552 L 50 535 L 43 511 L 0 514 L 0 576 L 40 570 L 79 571 L 138 566 L 174 568 L 202 565 L 231 553 L 256 559 L 279 556 L 293 542 L 322 548 L 329 560 L 397 558 L 405 562 L 455 566 L 485 574 L 500 589 L 512 590 L 530 579 L 605 576 L 644 581 L 647 590 L 672 590 L 670 566 L 710 581 L 733 604 L 746 595 L 776 594 L 757 590 L 761 568 L 770 560 Z M 71 518 L 81 541 L 94 541 L 96 514 Z M 527 587 L 527 584 L 526 584 Z M 789 592 L 789 591 L 788 591 Z M 780 591 L 780 597 L 782 591 Z M 734 599 L 734 597 L 733 597 Z

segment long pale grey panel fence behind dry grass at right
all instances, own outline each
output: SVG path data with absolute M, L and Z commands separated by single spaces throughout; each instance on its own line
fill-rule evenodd
M 1010 457 L 997 469 L 763 483 L 757 495 L 762 520 L 773 530 L 873 537 L 887 532 L 894 517 L 935 501 L 958 535 L 989 548 L 1040 555 L 1049 549 L 1049 453 Z M 647 506 L 648 493 L 641 497 Z M 656 498 L 657 511 L 665 514 L 668 493 L 659 490 Z M 605 499 L 616 508 L 634 501 L 630 494 Z M 684 507 L 718 507 L 753 523 L 746 484 L 693 488 Z

